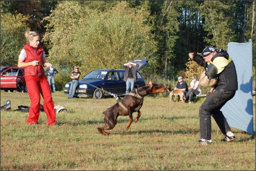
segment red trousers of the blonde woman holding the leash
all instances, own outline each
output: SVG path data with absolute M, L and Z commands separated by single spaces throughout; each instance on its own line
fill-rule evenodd
M 57 124 L 56 113 L 54 110 L 54 102 L 52 101 L 51 90 L 47 77 L 37 78 L 33 76 L 26 76 L 26 87 L 29 90 L 29 97 L 31 100 L 31 105 L 29 108 L 29 117 L 26 121 L 28 124 L 35 123 L 39 119 L 40 115 L 40 100 L 43 97 L 43 109 L 47 115 L 47 124 L 54 125 Z

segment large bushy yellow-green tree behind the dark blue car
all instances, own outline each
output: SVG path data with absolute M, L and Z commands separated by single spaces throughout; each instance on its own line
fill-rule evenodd
M 52 44 L 48 60 L 67 69 L 79 65 L 85 74 L 148 59 L 156 51 L 150 27 L 144 23 L 148 15 L 147 10 L 130 8 L 127 2 L 104 12 L 78 2 L 60 2 L 45 18 L 50 24 L 44 41 Z

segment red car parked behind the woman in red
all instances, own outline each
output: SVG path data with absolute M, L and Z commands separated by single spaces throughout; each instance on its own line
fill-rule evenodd
M 17 79 L 21 80 L 25 91 L 26 89 L 26 81 L 24 78 L 24 68 L 19 67 L 1 67 L 1 90 L 7 92 L 10 90 L 13 92 L 17 88 Z

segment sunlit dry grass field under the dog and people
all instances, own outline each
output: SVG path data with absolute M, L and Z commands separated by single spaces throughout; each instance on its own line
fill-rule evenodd
M 97 127 L 114 98 L 52 96 L 68 109 L 57 113 L 58 127 L 47 126 L 44 112 L 38 125 L 28 125 L 28 113 L 1 111 L 1 170 L 255 170 L 255 138 L 242 130 L 232 128 L 236 140 L 221 143 L 212 119 L 213 144 L 196 144 L 204 98 L 189 105 L 170 103 L 167 93 L 145 97 L 138 122 L 125 131 L 129 117 L 120 116 L 111 135 L 102 136 Z M 30 105 L 28 93 L 1 91 L 1 106 L 6 100 L 12 110 Z M 255 96 L 253 112 L 255 132 Z

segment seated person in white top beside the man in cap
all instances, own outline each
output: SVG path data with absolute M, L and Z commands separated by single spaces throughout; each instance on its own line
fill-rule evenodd
M 199 86 L 199 81 L 196 80 L 196 76 L 192 77 L 192 81 L 190 82 L 190 88 L 188 88 L 188 92 L 186 92 L 186 99 L 188 98 L 189 104 L 191 103 L 194 95 L 201 95 L 201 88 Z

